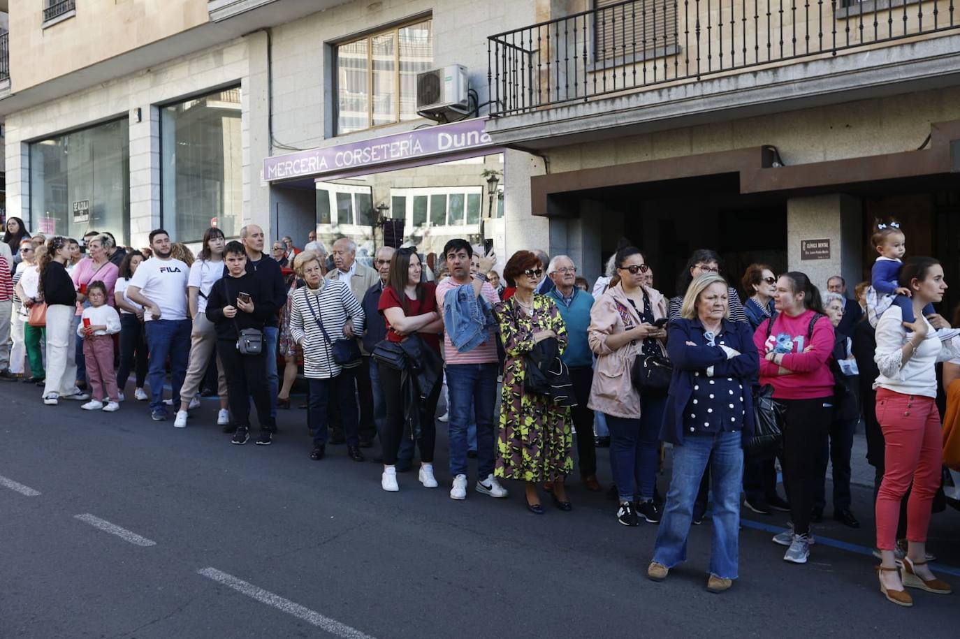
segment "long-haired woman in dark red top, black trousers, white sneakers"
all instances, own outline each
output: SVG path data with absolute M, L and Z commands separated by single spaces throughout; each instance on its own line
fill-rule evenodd
M 430 282 L 421 282 L 422 266 L 417 249 L 399 249 L 390 260 L 390 279 L 380 296 L 377 307 L 387 324 L 387 340 L 402 342 L 412 333 L 420 335 L 423 343 L 440 355 L 438 335 L 444 330 L 444 322 L 437 308 L 437 287 Z M 374 365 L 375 366 L 375 365 Z M 383 477 L 380 485 L 384 490 L 396 491 L 396 451 L 403 437 L 404 396 L 401 390 L 401 371 L 391 367 L 379 367 L 380 388 L 387 404 L 387 422 L 380 442 L 383 444 Z M 427 394 L 420 420 L 420 484 L 427 488 L 437 487 L 433 476 L 433 447 L 437 439 L 437 400 L 441 384 L 436 384 Z

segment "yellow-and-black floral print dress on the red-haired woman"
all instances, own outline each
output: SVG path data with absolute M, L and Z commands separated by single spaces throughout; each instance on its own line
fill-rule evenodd
M 566 325 L 553 299 L 535 295 L 530 314 L 511 297 L 496 305 L 507 360 L 503 367 L 500 424 L 497 433 L 497 477 L 544 482 L 573 470 L 570 410 L 547 395 L 525 392 L 526 354 L 534 332 L 552 330 L 560 351 L 566 347 Z

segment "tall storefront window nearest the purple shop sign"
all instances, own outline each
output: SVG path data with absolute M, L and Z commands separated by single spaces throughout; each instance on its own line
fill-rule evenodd
M 240 89 L 160 109 L 163 225 L 180 242 L 199 242 L 209 226 L 227 237 L 243 219 Z

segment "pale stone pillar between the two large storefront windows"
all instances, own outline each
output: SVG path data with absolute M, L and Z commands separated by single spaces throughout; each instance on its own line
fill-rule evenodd
M 130 244 L 146 247 L 150 231 L 160 226 L 160 112 L 156 106 L 141 106 L 130 118 Z M 173 176 L 171 183 L 173 183 Z M 167 230 L 177 240 L 176 220 L 168 212 Z

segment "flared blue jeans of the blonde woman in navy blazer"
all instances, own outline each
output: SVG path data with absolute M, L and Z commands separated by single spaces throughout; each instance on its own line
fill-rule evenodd
M 654 561 L 673 568 L 686 560 L 693 502 L 709 463 L 713 481 L 709 572 L 721 579 L 736 579 L 743 477 L 741 442 L 740 433 L 691 434 L 684 437 L 683 446 L 673 447 L 673 477 L 654 545 Z

